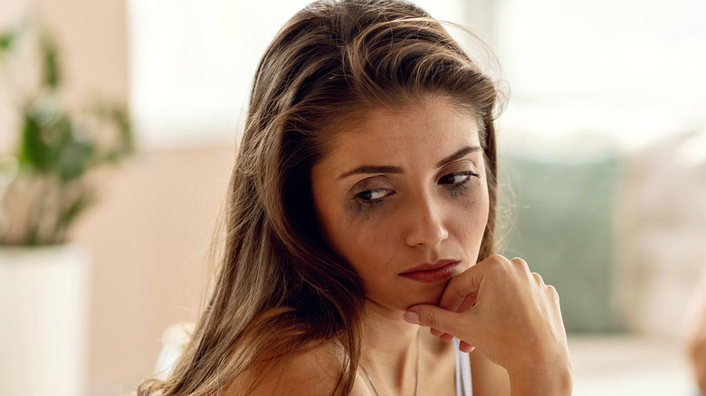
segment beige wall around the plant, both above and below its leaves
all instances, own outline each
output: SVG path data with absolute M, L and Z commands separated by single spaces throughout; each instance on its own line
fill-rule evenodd
M 0 0 L 0 9 L 33 9 L 52 27 L 70 103 L 95 95 L 127 102 L 125 0 Z M 100 204 L 73 238 L 92 255 L 91 396 L 134 390 L 152 371 L 167 325 L 194 320 L 232 151 L 225 142 L 153 150 L 101 176 Z

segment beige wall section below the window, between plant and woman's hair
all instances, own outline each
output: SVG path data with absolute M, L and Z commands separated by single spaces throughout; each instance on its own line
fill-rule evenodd
M 167 325 L 195 319 L 231 151 L 146 153 L 105 180 L 75 235 L 93 256 L 91 396 L 129 391 L 152 371 Z

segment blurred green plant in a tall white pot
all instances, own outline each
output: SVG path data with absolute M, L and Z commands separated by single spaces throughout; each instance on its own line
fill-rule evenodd
M 125 109 L 94 100 L 78 111 L 62 103 L 59 59 L 52 35 L 36 26 L 0 33 L 0 383 L 6 394 L 84 392 L 89 259 L 69 241 L 69 231 L 96 203 L 94 171 L 118 164 L 134 148 Z

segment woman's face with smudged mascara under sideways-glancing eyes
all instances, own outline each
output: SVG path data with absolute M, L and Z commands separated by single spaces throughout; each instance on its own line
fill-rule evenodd
M 448 280 L 475 264 L 488 221 L 476 119 L 427 98 L 367 112 L 331 147 L 311 172 L 314 205 L 368 304 L 436 304 Z

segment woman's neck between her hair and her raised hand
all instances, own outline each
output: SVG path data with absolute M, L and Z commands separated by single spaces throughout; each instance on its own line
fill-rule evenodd
M 419 329 L 403 312 L 367 301 L 362 367 L 380 394 L 414 394 L 419 369 Z

